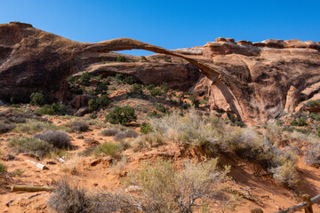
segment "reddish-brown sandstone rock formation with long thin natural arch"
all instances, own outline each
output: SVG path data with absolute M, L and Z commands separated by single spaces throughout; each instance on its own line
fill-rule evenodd
M 116 60 L 119 54 L 112 51 L 132 49 L 160 55 L 149 56 L 145 62 L 103 63 Z M 284 109 L 292 111 L 295 102 L 312 99 L 319 92 L 319 51 L 319 43 L 275 39 L 235 43 L 231 38 L 217 38 L 203 47 L 175 51 L 129 38 L 78 43 L 11 22 L 0 25 L 0 99 L 13 96 L 28 101 L 31 92 L 40 91 L 51 101 L 65 101 L 69 75 L 124 73 L 142 83 L 167 81 L 182 90 L 206 88 L 212 109 L 260 123 Z

